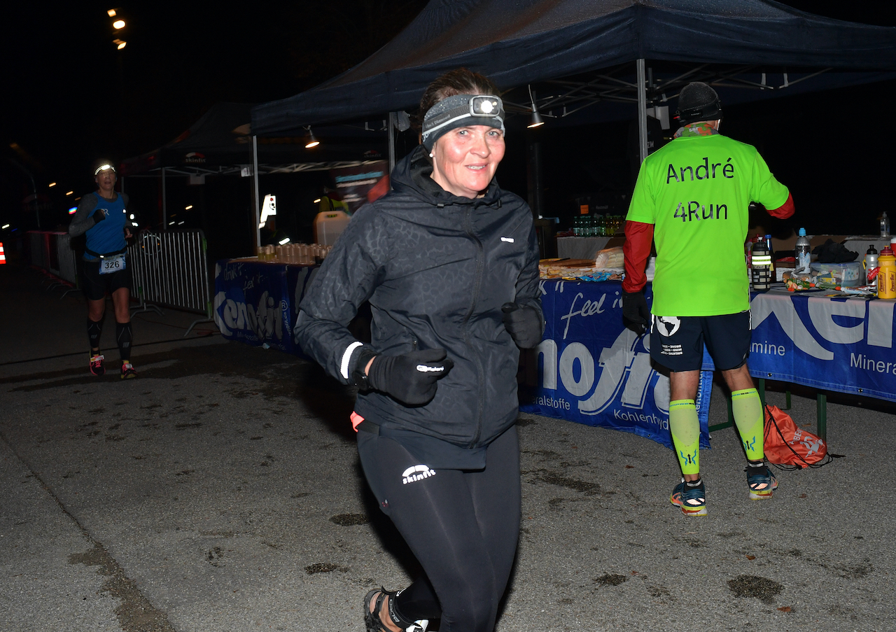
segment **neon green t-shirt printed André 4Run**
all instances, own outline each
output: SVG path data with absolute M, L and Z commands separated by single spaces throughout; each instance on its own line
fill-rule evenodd
M 650 154 L 626 219 L 654 224 L 652 313 L 718 316 L 749 309 L 749 204 L 775 209 L 787 199 L 787 187 L 752 145 L 721 134 L 685 134 Z

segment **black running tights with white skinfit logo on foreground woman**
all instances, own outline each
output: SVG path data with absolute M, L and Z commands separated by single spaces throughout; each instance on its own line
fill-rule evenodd
M 425 463 L 392 439 L 364 430 L 358 432 L 358 453 L 380 508 L 426 572 L 395 600 L 398 613 L 410 620 L 441 619 L 441 632 L 491 632 L 520 532 L 516 428 L 488 446 L 487 467 L 480 471 L 418 471 L 409 480 L 405 472 Z

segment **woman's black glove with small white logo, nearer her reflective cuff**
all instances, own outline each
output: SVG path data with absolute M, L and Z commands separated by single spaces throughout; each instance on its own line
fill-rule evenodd
M 428 403 L 435 397 L 436 381 L 448 375 L 454 363 L 444 349 L 411 351 L 403 356 L 374 358 L 367 371 L 371 388 L 392 395 L 409 406 Z M 364 367 L 358 366 L 359 371 Z

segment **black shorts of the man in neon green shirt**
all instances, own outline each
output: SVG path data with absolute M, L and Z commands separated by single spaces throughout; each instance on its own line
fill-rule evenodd
M 698 371 L 706 344 L 716 368 L 741 367 L 750 355 L 750 312 L 722 316 L 653 316 L 650 358 L 670 371 Z

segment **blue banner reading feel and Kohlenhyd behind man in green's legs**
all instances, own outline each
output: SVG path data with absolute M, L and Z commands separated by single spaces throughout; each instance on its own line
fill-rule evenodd
M 646 295 L 650 303 L 650 287 Z M 672 449 L 668 377 L 651 367 L 650 334 L 639 338 L 622 324 L 622 284 L 541 281 L 541 307 L 545 337 L 524 360 L 521 410 L 633 432 Z M 703 371 L 696 402 L 702 447 L 709 447 L 711 387 L 712 373 Z

